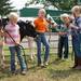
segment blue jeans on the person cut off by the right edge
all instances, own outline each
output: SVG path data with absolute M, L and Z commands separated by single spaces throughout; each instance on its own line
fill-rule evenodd
M 81 57 L 81 40 L 80 40 L 80 33 L 72 36 L 72 48 L 75 51 L 75 55 L 77 57 Z

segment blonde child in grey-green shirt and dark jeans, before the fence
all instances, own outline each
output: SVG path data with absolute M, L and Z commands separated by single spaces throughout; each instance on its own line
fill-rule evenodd
M 64 24 L 59 25 L 58 29 L 58 59 L 68 58 L 68 30 L 69 30 L 69 15 L 68 14 L 62 14 L 60 19 Z M 64 52 L 63 52 L 64 49 Z

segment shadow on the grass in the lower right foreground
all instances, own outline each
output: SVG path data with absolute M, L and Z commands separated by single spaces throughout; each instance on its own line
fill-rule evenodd
M 51 79 L 66 79 L 69 76 L 73 76 L 76 73 L 81 73 L 81 70 L 75 70 L 75 69 L 49 69 Z

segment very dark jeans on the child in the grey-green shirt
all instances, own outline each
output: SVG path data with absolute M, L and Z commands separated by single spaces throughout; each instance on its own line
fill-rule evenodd
M 63 53 L 64 49 L 64 53 Z M 58 57 L 68 58 L 68 37 L 59 37 L 58 40 Z

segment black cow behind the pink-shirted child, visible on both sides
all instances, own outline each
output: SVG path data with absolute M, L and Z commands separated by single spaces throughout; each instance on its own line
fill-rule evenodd
M 8 24 L 9 18 L 2 18 L 0 19 L 0 27 L 5 27 L 5 25 Z M 19 26 L 19 33 L 21 33 L 21 41 L 26 37 L 32 37 L 36 38 L 37 37 L 37 31 L 35 29 L 35 26 L 31 24 L 31 22 L 29 21 L 18 21 L 17 25 Z

